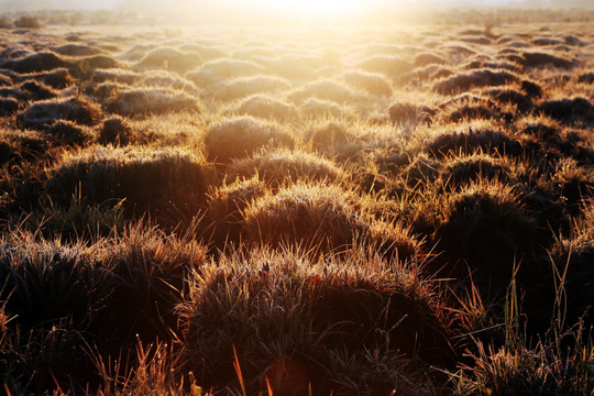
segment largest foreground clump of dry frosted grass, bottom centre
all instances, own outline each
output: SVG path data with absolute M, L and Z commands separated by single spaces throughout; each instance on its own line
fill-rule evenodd
M 425 385 L 408 380 L 403 364 L 414 344 L 435 361 L 449 351 L 429 285 L 406 266 L 391 271 L 376 257 L 353 253 L 316 263 L 302 254 L 256 250 L 223 255 L 194 272 L 190 296 L 178 309 L 191 370 L 204 373 L 199 381 L 215 388 L 243 386 L 233 381 L 234 363 L 250 393 L 266 383 L 274 394 L 307 394 L 308 386 L 383 394 L 395 384 L 422 393 Z M 407 353 L 400 364 L 388 358 L 396 350 Z M 377 359 L 364 363 L 365 355 Z

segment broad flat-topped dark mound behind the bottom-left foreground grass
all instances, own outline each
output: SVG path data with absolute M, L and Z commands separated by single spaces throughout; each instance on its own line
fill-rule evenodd
M 150 211 L 175 223 L 180 212 L 190 217 L 206 202 L 206 164 L 187 150 L 90 147 L 67 153 L 53 169 L 48 193 L 68 205 L 80 189 L 89 204 L 116 206 L 130 215 Z

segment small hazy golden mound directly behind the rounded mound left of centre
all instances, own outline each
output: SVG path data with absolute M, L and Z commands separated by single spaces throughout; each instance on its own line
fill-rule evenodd
M 229 111 L 277 121 L 287 121 L 297 116 L 297 109 L 293 105 L 265 95 L 250 96 L 231 107 Z

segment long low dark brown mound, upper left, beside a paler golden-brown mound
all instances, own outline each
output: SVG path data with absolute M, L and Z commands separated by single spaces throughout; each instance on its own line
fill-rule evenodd
M 24 128 L 38 129 L 56 120 L 68 120 L 82 125 L 94 125 L 101 117 L 99 107 L 87 100 L 76 98 L 65 100 L 44 100 L 31 105 L 19 114 Z

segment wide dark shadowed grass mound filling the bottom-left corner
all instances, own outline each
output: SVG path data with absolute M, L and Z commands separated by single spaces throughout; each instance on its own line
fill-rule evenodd
M 12 319 L 2 324 L 11 343 L 3 342 L 1 353 L 14 359 L 0 372 L 7 389 L 82 388 L 98 381 L 89 348 L 114 356 L 139 338 L 168 339 L 185 274 L 204 254 L 195 242 L 142 224 L 90 245 L 63 245 L 26 232 L 2 238 L 0 299 Z M 18 381 L 22 375 L 26 383 Z

